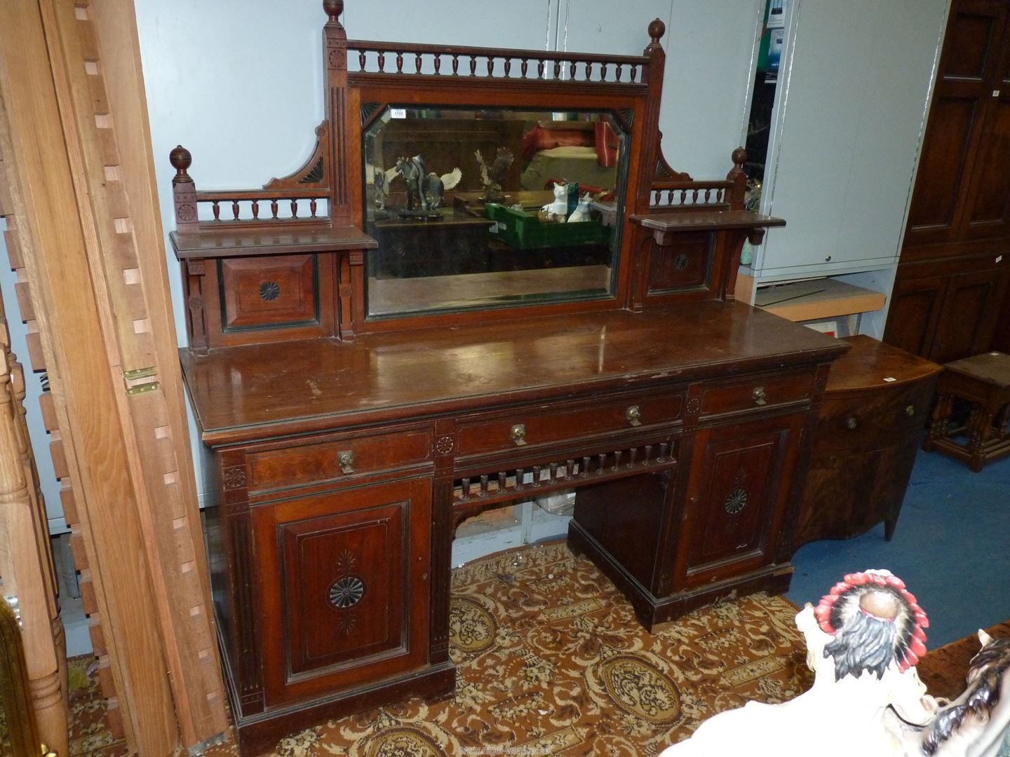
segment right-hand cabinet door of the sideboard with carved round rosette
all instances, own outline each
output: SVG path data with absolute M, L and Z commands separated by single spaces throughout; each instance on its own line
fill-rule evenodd
M 682 544 L 697 586 L 774 561 L 803 415 L 698 432 Z

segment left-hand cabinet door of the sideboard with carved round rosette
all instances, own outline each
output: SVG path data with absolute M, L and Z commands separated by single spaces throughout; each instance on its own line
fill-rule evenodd
M 428 478 L 254 510 L 269 705 L 424 663 L 430 511 Z

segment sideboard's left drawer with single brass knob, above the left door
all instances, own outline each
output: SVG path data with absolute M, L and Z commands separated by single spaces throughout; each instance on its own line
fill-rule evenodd
M 403 468 L 431 459 L 427 428 L 249 452 L 249 492 L 339 480 L 357 473 Z

